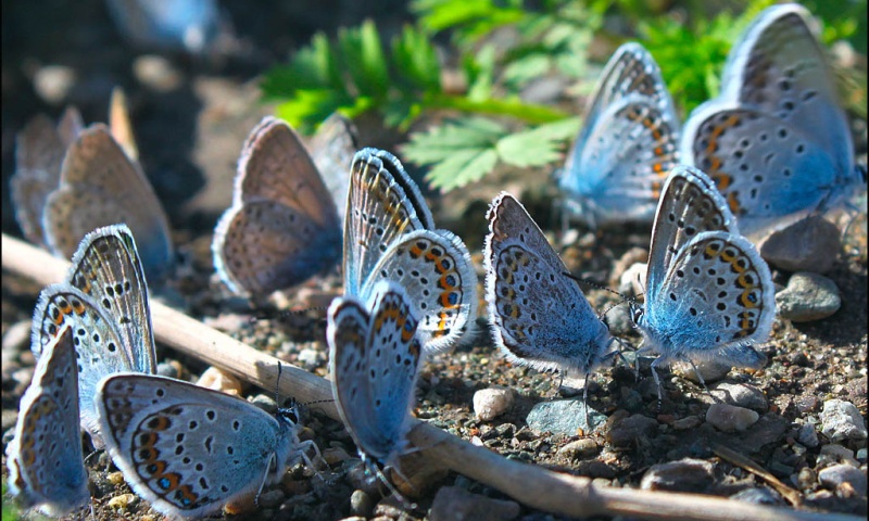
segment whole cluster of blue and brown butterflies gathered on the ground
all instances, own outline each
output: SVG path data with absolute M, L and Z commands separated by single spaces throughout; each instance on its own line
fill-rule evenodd
M 633 317 L 641 351 L 659 355 L 659 397 L 655 368 L 673 359 L 763 364 L 753 346 L 770 333 L 774 288 L 742 232 L 841 205 L 859 185 L 845 118 L 803 8 L 761 13 L 727 67 L 721 98 L 692 114 L 677 150 L 678 119 L 657 66 L 639 45 L 620 48 L 559 180 L 570 209 L 589 224 L 653 221 L 645 303 L 633 305 Z M 63 201 L 55 193 L 91 201 L 96 191 L 100 206 L 116 195 L 112 190 L 127 190 L 127 203 L 115 205 L 127 213 L 96 223 L 126 226 L 87 234 L 66 282 L 40 295 L 32 342 L 38 365 L 8 448 L 10 490 L 48 513 L 87 503 L 80 418 L 95 446 L 109 449 L 156 510 L 206 516 L 278 480 L 291 462 L 306 460 L 306 447 L 292 411 L 272 417 L 240 398 L 153 374 L 144 274 L 166 272 L 171 242 L 167 228 L 156 226 L 165 217 L 151 216 L 159 203 L 150 187 L 156 205 L 146 212 L 130 203 L 140 201 L 138 186 L 70 174 L 97 147 L 84 143 L 99 128 L 78 131 L 60 180 L 47 183 L 48 204 L 29 215 L 41 216 L 38 229 L 51 245 L 74 237 L 72 223 L 60 231 L 48 226 L 59 213 L 55 199 Z M 436 227 L 399 160 L 377 149 L 351 157 L 348 124 L 333 119 L 327 128 L 320 139 L 328 147 L 311 153 L 280 120 L 266 118 L 253 130 L 232 205 L 215 232 L 214 264 L 230 290 L 253 296 L 299 283 L 342 255 L 344 295 L 327 317 L 332 390 L 363 460 L 377 471 L 375 463 L 392 465 L 407 449 L 421 360 L 473 329 L 477 278 L 467 247 Z M 100 147 L 116 149 L 116 161 L 96 171 L 143 182 L 121 147 Z M 320 160 L 316 150 L 325 151 Z M 698 168 L 678 164 L 680 155 Z M 328 186 L 335 178 L 325 173 L 348 164 L 349 182 Z M 20 208 L 20 221 L 24 214 Z M 486 301 L 506 356 L 584 376 L 612 359 L 620 340 L 521 204 L 502 193 L 488 218 Z

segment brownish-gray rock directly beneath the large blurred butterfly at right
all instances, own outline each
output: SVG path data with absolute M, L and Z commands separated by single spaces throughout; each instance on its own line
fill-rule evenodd
M 842 251 L 841 238 L 839 227 L 813 216 L 771 233 L 758 250 L 761 257 L 778 268 L 826 274 Z

